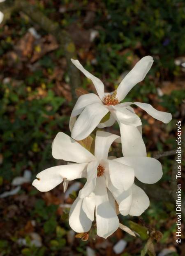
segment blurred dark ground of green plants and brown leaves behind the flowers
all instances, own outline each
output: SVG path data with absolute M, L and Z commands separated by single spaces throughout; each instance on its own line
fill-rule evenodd
M 185 117 L 185 2 L 7 0 L 0 11 L 0 256 L 184 256 L 171 180 L 176 123 Z M 70 182 L 65 194 L 62 184 L 46 193 L 31 185 L 37 173 L 63 163 L 52 158 L 51 143 L 59 131 L 70 135 L 75 89 L 95 91 L 69 59 L 77 57 L 111 92 L 146 55 L 153 66 L 125 101 L 150 103 L 173 119 L 164 124 L 135 108 L 148 156 L 170 151 L 159 159 L 162 179 L 145 187 L 150 207 L 141 218 L 120 216 L 140 237 L 117 230 L 103 239 L 93 226 L 89 237 L 75 238 L 69 206 L 84 180 Z M 119 134 L 116 124 L 106 130 Z M 113 145 L 111 154 L 121 156 L 120 148 Z

